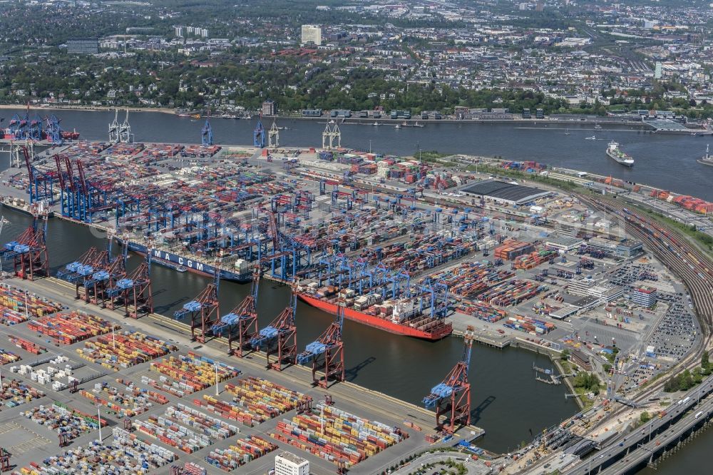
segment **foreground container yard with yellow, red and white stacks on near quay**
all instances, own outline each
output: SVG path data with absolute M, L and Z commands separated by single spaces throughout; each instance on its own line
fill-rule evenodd
M 54 292 L 71 288 L 53 282 Z M 44 285 L 27 283 L 33 288 Z M 316 402 L 324 390 L 307 384 L 299 367 L 264 374 L 262 363 L 227 362 L 222 352 L 210 347 L 202 354 L 185 351 L 185 344 L 148 321 L 113 323 L 120 313 L 98 307 L 89 307 L 94 314 L 72 310 L 71 297 L 59 301 L 63 299 L 68 305 L 60 305 L 60 311 L 8 329 L 26 335 L 21 339 L 25 349 L 17 347 L 22 360 L 11 363 L 16 365 L 14 379 L 3 379 L 0 406 L 0 424 L 11 411 L 21 411 L 15 413 L 20 419 L 11 419 L 17 425 L 8 434 L 29 434 L 26 444 L 13 444 L 0 434 L 17 473 L 45 474 L 52 468 L 89 473 L 91 461 L 131 474 L 177 463 L 208 473 L 258 464 L 267 472 L 272 458 L 266 455 L 278 448 L 302 450 L 314 457 L 317 467 L 324 464 L 317 471 L 329 472 L 380 466 L 389 460 L 387 456 L 379 461 L 381 452 L 403 454 L 426 446 L 425 436 L 433 434 L 426 429 L 422 409 L 343 383 L 329 389 L 337 401 L 324 405 L 324 435 L 319 429 L 310 438 L 314 420 L 322 414 Z M 47 351 L 33 354 L 40 343 Z M 21 367 L 24 361 L 28 365 Z M 53 386 L 60 380 L 61 385 Z M 416 417 L 418 424 L 409 423 L 418 430 L 404 426 L 406 412 Z M 300 434 L 285 434 L 280 427 L 286 421 L 299 427 Z M 368 465 L 371 459 L 375 465 Z

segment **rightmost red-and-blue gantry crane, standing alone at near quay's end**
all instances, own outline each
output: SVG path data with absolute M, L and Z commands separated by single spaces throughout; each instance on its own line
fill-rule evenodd
M 468 382 L 468 369 L 471 366 L 474 327 L 468 327 L 463 335 L 463 357 L 451 369 L 441 384 L 431 389 L 431 394 L 424 397 L 426 409 L 436 408 L 436 427 L 438 430 L 453 434 L 458 424 L 471 424 L 471 383 Z M 441 416 L 446 419 L 441 423 Z

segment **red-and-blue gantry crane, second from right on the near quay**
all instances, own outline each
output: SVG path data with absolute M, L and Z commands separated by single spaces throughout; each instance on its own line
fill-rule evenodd
M 299 364 L 312 362 L 312 384 L 323 388 L 329 387 L 329 379 L 344 381 L 344 302 L 337 305 L 337 320 L 317 340 L 307 344 L 304 352 L 297 355 Z M 322 377 L 317 378 L 317 372 Z

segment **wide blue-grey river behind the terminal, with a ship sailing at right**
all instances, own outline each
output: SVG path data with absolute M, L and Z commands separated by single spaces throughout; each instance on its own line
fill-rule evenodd
M 6 122 L 14 113 L 0 110 Z M 82 138 L 106 141 L 111 111 L 38 111 L 40 116 L 56 113 L 66 130 L 76 128 Z M 34 112 L 33 112 L 34 113 Z M 280 144 L 286 147 L 322 145 L 324 122 L 282 119 L 278 125 Z M 352 119 L 354 123 L 358 119 Z M 120 114 L 119 122 L 123 121 Z M 131 113 L 129 122 L 136 141 L 200 143 L 200 130 L 205 120 L 182 118 L 158 112 Z M 265 120 L 270 128 L 271 120 Z M 216 143 L 252 144 L 256 121 L 211 120 Z M 653 185 L 676 193 L 698 196 L 713 201 L 713 167 L 701 165 L 710 138 L 690 135 L 655 134 L 632 128 L 613 126 L 595 130 L 591 123 L 550 121 L 537 123 L 426 123 L 424 128 L 395 129 L 393 123 L 379 127 L 368 125 L 341 126 L 342 145 L 374 150 L 377 153 L 411 155 L 416 150 L 438 150 L 442 153 L 468 153 L 512 160 L 535 160 L 638 183 Z M 596 140 L 585 140 L 596 136 Z M 626 168 L 605 155 L 607 143 L 615 140 L 636 160 Z

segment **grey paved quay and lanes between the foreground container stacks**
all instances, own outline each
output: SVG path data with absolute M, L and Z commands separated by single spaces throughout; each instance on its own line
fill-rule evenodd
M 403 402 L 394 397 L 390 397 L 387 394 L 380 392 L 375 392 L 371 389 L 360 387 L 357 384 L 350 382 L 339 382 L 338 384 L 332 384 L 329 389 L 320 389 L 312 387 L 310 369 L 307 367 L 302 367 L 299 365 L 287 367 L 282 372 L 265 371 L 265 354 L 261 352 L 254 352 L 246 358 L 239 359 L 237 357 L 227 357 L 227 340 L 224 338 L 210 339 L 205 344 L 200 344 L 197 342 L 190 342 L 190 327 L 185 325 L 183 322 L 178 322 L 165 315 L 160 315 L 158 313 L 152 313 L 143 317 L 139 320 L 125 319 L 122 313 L 114 312 L 108 309 L 102 309 L 101 307 L 96 307 L 95 305 L 88 305 L 83 301 L 78 301 L 74 299 L 75 287 L 68 282 L 63 280 L 58 280 L 53 277 L 49 277 L 42 280 L 36 280 L 34 282 L 25 280 L 9 279 L 3 281 L 6 285 L 11 285 L 17 287 L 21 290 L 28 290 L 33 292 L 39 297 L 46 298 L 48 301 L 57 302 L 58 305 L 62 305 L 67 308 L 65 311 L 70 310 L 81 310 L 90 315 L 96 315 L 109 322 L 113 322 L 114 325 L 120 327 L 120 331 L 123 332 L 128 330 L 132 334 L 148 334 L 152 337 L 158 338 L 167 344 L 175 344 L 178 347 L 178 351 L 172 352 L 166 355 L 177 356 L 178 354 L 190 354 L 190 352 L 197 352 L 200 350 L 200 355 L 202 358 L 207 358 L 209 361 L 218 361 L 221 366 L 235 368 L 240 371 L 240 375 L 235 378 L 225 379 L 219 384 L 219 391 L 225 392 L 227 385 L 235 384 L 236 379 L 243 377 L 259 377 L 266 379 L 271 384 L 277 384 L 279 387 L 286 387 L 292 390 L 296 390 L 300 394 L 305 394 L 312 397 L 314 405 L 321 404 L 324 401 L 324 396 L 327 394 L 330 399 L 334 402 L 334 408 L 341 411 L 345 411 L 349 414 L 354 414 L 358 417 L 364 417 L 370 421 L 378 421 L 387 424 L 389 427 L 399 427 L 404 434 L 408 434 L 408 437 L 403 441 L 396 443 L 394 446 L 390 446 L 384 451 L 380 451 L 373 456 L 369 456 L 364 461 L 360 461 L 356 464 L 355 468 L 359 471 L 365 471 L 368 473 L 376 473 L 382 471 L 391 464 L 393 464 L 394 459 L 401 459 L 408 454 L 414 453 L 414 451 L 419 451 L 420 449 L 426 449 L 431 445 L 431 442 L 427 440 L 428 437 L 434 437 L 435 431 L 434 427 L 434 413 L 429 412 L 422 407 L 418 407 L 414 404 L 409 404 Z M 50 314 L 51 315 L 51 314 Z M 34 321 L 30 320 L 30 322 Z M 65 356 L 68 358 L 69 362 L 75 362 L 74 374 L 77 377 L 81 377 L 81 383 L 77 390 L 87 390 L 89 391 L 96 384 L 110 384 L 111 386 L 116 386 L 117 378 L 124 381 L 130 381 L 137 387 L 145 387 L 145 381 L 149 379 L 158 380 L 160 374 L 154 373 L 153 370 L 149 370 L 150 362 L 145 362 L 142 364 L 136 364 L 134 366 L 120 369 L 119 371 L 110 370 L 108 371 L 106 365 L 97 364 L 97 362 L 91 360 L 86 361 L 86 359 L 78 359 L 78 349 L 85 346 L 85 342 L 93 341 L 93 339 L 88 339 L 84 341 L 79 341 L 73 344 L 63 344 L 59 345 L 55 340 L 48 338 L 46 335 L 35 334 L 34 332 L 24 329 L 24 326 L 28 325 L 27 322 L 22 322 L 12 327 L 4 327 L 0 325 L 0 340 L 4 339 L 4 334 L 11 332 L 13 334 L 22 334 L 29 342 L 36 344 L 39 347 L 45 347 L 49 354 L 49 357 L 37 358 L 30 357 L 29 355 L 22 354 L 23 358 L 18 364 L 26 364 L 25 362 L 36 362 L 36 368 L 41 368 L 41 362 L 45 364 L 50 360 L 57 357 L 57 355 Z M 116 334 L 119 335 L 120 331 L 117 330 Z M 112 334 L 109 333 L 105 337 L 108 344 L 111 344 Z M 115 337 L 116 338 L 116 337 Z M 165 357 L 164 357 L 165 358 Z M 155 361 L 158 361 L 156 359 Z M 211 367 L 212 368 L 212 367 Z M 3 381 L 8 384 L 10 377 L 17 378 L 17 374 L 9 374 L 3 371 Z M 24 378 L 24 377 L 21 377 Z M 37 400 L 37 404 L 51 404 L 53 400 L 61 402 L 69 407 L 78 409 L 79 411 L 86 414 L 95 414 L 96 407 L 89 404 L 83 397 L 78 397 L 73 393 L 70 387 L 63 387 L 58 389 L 58 391 L 53 391 L 48 387 L 42 387 L 36 382 L 30 382 L 29 384 L 33 387 L 40 386 L 43 391 L 47 394 L 46 397 Z M 145 387 L 148 390 L 153 390 L 150 386 Z M 96 393 L 93 393 L 96 394 Z M 199 400 L 195 398 L 200 398 L 201 394 L 205 394 L 205 397 L 215 397 L 215 388 L 208 387 L 205 391 L 195 392 L 190 394 L 190 397 L 186 395 L 185 397 L 176 397 L 175 394 L 168 394 L 169 404 L 188 404 L 191 400 Z M 20 406 L 21 409 L 29 409 L 37 404 L 25 404 Z M 193 407 L 193 406 L 191 406 Z M 150 414 L 160 415 L 166 409 L 165 406 L 156 404 L 155 409 L 145 414 L 140 414 L 139 416 L 132 418 L 134 421 L 145 421 L 146 417 Z M 200 412 L 205 412 L 206 408 L 197 406 L 193 409 Z M 0 413 L 0 424 L 4 421 L 10 421 L 11 417 L 16 414 L 15 410 L 3 410 Z M 281 441 L 279 439 L 274 439 L 270 434 L 277 434 L 276 425 L 277 422 L 283 419 L 290 419 L 293 417 L 294 412 L 287 412 L 282 416 L 270 419 L 267 422 L 262 422 L 261 424 L 250 427 L 240 427 L 240 436 L 244 438 L 245 436 L 259 436 L 262 439 L 270 440 L 273 444 L 277 444 L 282 449 L 287 449 L 290 451 L 295 451 L 300 456 L 306 456 L 311 462 L 313 468 L 312 470 L 317 473 L 326 473 L 328 471 L 335 471 L 336 466 L 327 460 L 320 458 L 319 456 L 314 456 L 309 452 L 305 452 L 297 449 L 297 447 L 289 446 L 289 444 Z M 120 428 L 123 424 L 123 418 L 117 417 L 113 414 L 102 414 L 102 419 L 106 419 L 109 422 L 109 426 L 103 428 L 103 438 L 106 440 L 107 437 L 111 439 L 111 434 L 113 427 Z M 12 419 L 15 420 L 15 419 Z M 39 434 L 36 440 L 37 446 L 34 447 L 32 451 L 23 452 L 21 449 L 16 448 L 12 450 L 13 444 L 5 439 L 9 434 L 14 434 L 14 431 L 8 434 L 0 434 L 0 444 L 4 444 L 13 453 L 13 463 L 17 464 L 19 467 L 27 466 L 31 461 L 41 462 L 48 456 L 53 456 L 59 453 L 62 449 L 57 447 L 56 434 L 48 429 L 36 426 L 31 421 L 26 419 L 21 420 L 21 429 L 17 430 L 32 430 L 36 434 Z M 227 420 L 227 422 L 231 422 Z M 235 424 L 235 422 L 232 422 Z M 143 422 L 137 422 L 136 424 L 143 424 Z M 118 429 L 117 429 L 118 430 Z M 483 429 L 478 427 L 465 427 L 462 429 L 465 434 L 468 433 L 470 437 L 471 431 L 476 436 L 482 436 L 484 434 Z M 135 432 L 142 439 L 151 441 L 150 438 L 145 436 L 141 431 Z M 210 446 L 206 446 L 205 449 L 198 449 L 193 454 L 180 454 L 182 463 L 183 461 L 193 461 L 195 464 L 208 469 L 210 474 L 222 473 L 220 471 L 215 472 L 215 466 L 207 464 L 204 460 L 205 456 L 209 451 L 220 448 L 221 446 L 227 447 L 228 443 L 234 443 L 237 436 L 228 437 L 225 441 L 215 441 Z M 76 442 L 70 446 L 70 449 L 76 444 L 86 444 L 91 437 L 96 437 L 95 434 L 86 434 L 80 436 L 76 439 Z M 257 440 L 257 439 L 256 439 Z M 433 439 L 431 439 L 433 440 Z M 175 447 L 170 445 L 161 444 L 165 446 L 167 450 L 174 450 Z M 267 472 L 272 464 L 272 457 L 266 456 L 259 459 L 255 459 L 250 463 L 251 470 L 262 470 Z

